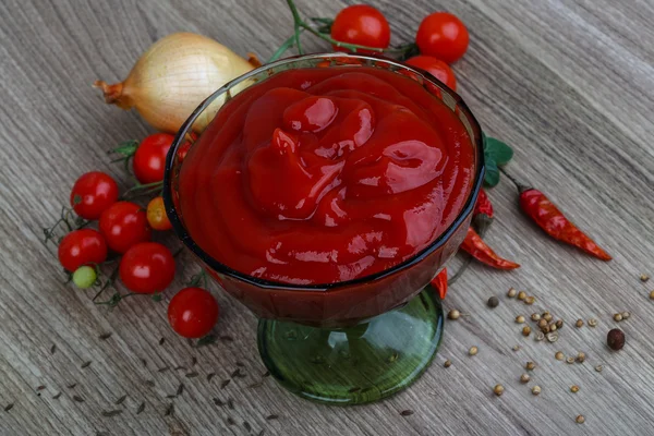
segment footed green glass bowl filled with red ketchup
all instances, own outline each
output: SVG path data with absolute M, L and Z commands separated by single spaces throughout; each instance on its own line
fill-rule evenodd
M 361 75 L 363 73 L 368 75 Z M 386 82 L 377 83 L 377 78 L 399 86 L 396 94 L 386 88 Z M 338 84 L 339 88 L 326 92 L 328 85 L 324 84 Z M 283 90 L 279 90 L 281 85 Z M 343 92 L 342 86 L 348 89 Z M 364 93 L 364 100 L 373 106 L 352 104 L 350 86 L 361 88 L 354 90 Z M 304 93 L 305 89 L 320 88 L 327 97 L 320 93 L 318 96 Z M 366 153 L 372 155 L 359 159 L 355 171 L 348 172 L 347 162 L 337 166 L 335 171 L 331 169 L 336 164 L 325 164 L 315 167 L 322 171 L 319 177 L 310 174 L 313 167 L 305 160 L 314 159 L 314 155 L 322 159 L 320 162 L 338 164 L 344 155 L 350 158 L 354 153 L 361 154 L 368 140 L 370 144 L 378 144 L 390 136 L 401 140 L 403 129 L 411 131 L 411 135 L 420 134 L 424 123 L 412 118 L 413 114 L 407 114 L 409 109 L 395 100 L 391 105 L 377 101 L 386 94 L 395 99 L 405 99 L 408 107 L 414 105 L 413 100 L 407 99 L 409 97 L 424 102 L 429 110 L 434 106 L 434 113 L 441 111 L 440 117 L 423 106 L 411 110 L 420 112 L 419 118 L 440 118 L 433 123 L 443 124 L 446 132 L 444 144 L 440 144 L 444 150 L 470 149 L 444 158 L 444 153 L 425 148 L 420 142 L 415 145 L 415 142 L 400 141 L 405 144 L 405 149 L 385 148 L 392 149 L 392 155 L 383 152 L 384 159 L 388 158 L 384 160 L 376 158 L 371 145 Z M 264 101 L 262 96 L 267 99 Z M 276 106 L 280 101 L 288 104 L 283 106 L 286 110 Z M 334 101 L 341 106 L 337 108 Z M 372 111 L 373 108 L 377 112 Z M 351 112 L 346 113 L 348 110 Z M 392 117 L 388 119 L 400 124 L 391 123 L 382 132 L 382 122 L 375 123 L 385 113 L 390 113 Z M 353 118 L 347 114 L 353 114 Z M 403 122 L 402 117 L 409 118 Z M 351 124 L 352 119 L 355 124 Z M 291 133 L 277 128 L 272 130 L 270 120 L 283 121 Z M 331 125 L 335 120 L 340 120 L 339 124 Z M 371 123 L 379 129 L 379 135 L 374 136 L 373 129 L 362 130 L 362 125 Z M 337 135 L 351 131 L 352 125 L 355 129 L 348 141 L 335 142 L 340 145 L 320 148 L 314 138 L 316 135 L 322 140 L 328 136 L 325 129 L 329 125 L 330 132 Z M 266 136 L 262 133 L 266 130 L 272 133 Z M 427 136 L 432 134 L 429 129 L 425 132 Z M 452 136 L 451 132 L 458 133 Z M 252 141 L 257 135 L 266 138 L 264 147 L 261 137 Z M 455 143 L 457 147 L 452 148 Z M 237 149 L 233 149 L 234 144 Z M 310 148 L 311 155 L 295 158 L 300 153 L 308 153 Z M 234 169 L 232 164 L 241 165 L 244 159 L 247 164 Z M 382 160 L 384 183 L 378 181 L 379 177 L 373 177 L 375 166 Z M 360 165 L 363 161 L 365 165 Z M 424 162 L 437 165 L 432 168 L 425 167 Z M 221 169 L 215 170 L 218 167 Z M 300 167 L 302 170 L 296 171 Z M 330 171 L 339 175 L 329 179 Z M 397 175 L 404 173 L 420 183 L 407 182 L 409 178 L 404 180 Z M 177 235 L 228 293 L 259 317 L 258 348 L 270 374 L 303 398 L 332 404 L 356 404 L 385 398 L 409 386 L 436 354 L 443 335 L 443 310 L 437 293 L 428 283 L 465 237 L 483 173 L 480 125 L 461 98 L 436 78 L 421 70 L 374 56 L 307 55 L 263 65 L 207 98 L 182 125 L 168 154 L 164 198 Z M 446 182 L 441 182 L 441 174 L 450 175 L 444 175 Z M 327 182 L 324 182 L 325 178 Z M 315 194 L 318 179 L 325 194 Z M 240 195 L 242 180 L 249 185 L 245 195 Z M 313 181 L 306 187 L 304 180 Z M 337 222 L 342 209 L 331 206 L 335 202 L 346 201 L 344 189 L 339 196 L 337 187 L 347 180 L 356 181 L 348 187 L 348 193 L 355 195 L 348 205 L 349 213 L 354 215 L 353 210 L 358 210 L 364 216 L 356 222 Z M 440 183 L 425 192 L 447 191 L 452 193 L 453 199 L 448 194 L 444 196 L 444 204 L 431 201 L 414 207 L 411 203 L 411 207 L 402 209 L 409 202 L 407 198 L 414 202 L 415 192 L 423 189 L 423 181 Z M 328 192 L 334 194 L 330 202 L 324 201 L 326 195 L 331 195 Z M 377 203 L 379 193 L 386 199 Z M 432 198 L 433 194 L 429 195 L 427 197 Z M 219 204 L 219 208 L 214 208 L 214 203 Z M 250 210 L 253 204 L 256 205 L 254 211 Z M 289 204 L 296 206 L 289 207 Z M 324 204 L 330 205 L 327 211 Z M 376 205 L 389 213 L 382 214 Z M 356 207 L 359 209 L 354 209 Z M 425 210 L 438 216 L 438 226 L 425 227 Z M 372 230 L 362 233 L 368 239 L 355 249 L 352 245 L 359 244 L 354 242 L 361 240 L 360 234 L 338 242 L 341 233 L 351 229 L 368 229 L 371 222 L 377 226 L 380 219 L 391 220 L 393 211 L 397 211 L 393 219 L 407 221 L 402 221 L 407 229 L 402 228 L 401 237 L 421 242 L 393 245 L 390 234 L 397 232 Z M 270 233 L 261 233 L 262 226 L 257 225 L 261 222 L 255 218 L 262 215 L 276 220 Z M 420 218 L 412 218 L 413 215 Z M 292 258 L 283 257 L 275 250 L 281 246 L 279 242 L 265 251 L 265 258 L 253 259 L 259 244 L 294 227 L 306 226 L 307 221 L 316 220 L 316 216 L 320 227 L 308 227 L 296 234 L 291 232 L 284 239 L 284 244 L 295 244 L 304 251 L 298 249 L 292 251 Z M 342 230 L 335 230 L 339 226 Z M 342 252 L 324 250 L 330 243 L 340 243 Z M 365 261 L 338 264 L 343 255 L 365 250 L 372 250 L 375 255 L 361 255 Z M 401 250 L 409 251 L 392 262 L 386 259 Z M 325 277 L 330 279 L 325 280 Z

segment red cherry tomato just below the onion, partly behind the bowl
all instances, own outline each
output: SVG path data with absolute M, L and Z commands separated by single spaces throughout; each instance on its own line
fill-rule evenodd
M 166 155 L 173 140 L 168 133 L 155 133 L 141 142 L 134 154 L 134 175 L 141 183 L 164 180 Z

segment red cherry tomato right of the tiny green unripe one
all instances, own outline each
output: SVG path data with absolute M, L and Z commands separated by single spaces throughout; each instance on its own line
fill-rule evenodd
M 166 246 L 157 242 L 142 242 L 123 254 L 118 272 L 132 292 L 160 292 L 174 278 L 174 258 Z

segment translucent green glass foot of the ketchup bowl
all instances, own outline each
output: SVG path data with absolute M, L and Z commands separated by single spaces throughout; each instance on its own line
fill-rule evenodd
M 403 307 L 348 328 L 261 319 L 264 364 L 291 392 L 346 405 L 404 389 L 429 366 L 443 336 L 443 308 L 427 287 Z

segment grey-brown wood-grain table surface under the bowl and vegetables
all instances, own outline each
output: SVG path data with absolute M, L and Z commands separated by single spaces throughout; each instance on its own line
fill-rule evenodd
M 334 16 L 344 4 L 298 3 L 306 16 Z M 254 51 L 266 59 L 290 34 L 286 3 L 5 0 L 0 8 L 0 434 L 653 434 L 649 292 L 654 279 L 643 283 L 639 277 L 654 276 L 654 3 L 373 3 L 390 17 L 395 43 L 411 40 L 421 17 L 434 10 L 447 8 L 467 23 L 470 49 L 455 65 L 463 99 L 489 135 L 514 147 L 509 171 L 546 191 L 614 261 L 598 262 L 538 232 L 518 211 L 516 191 L 505 179 L 489 192 L 497 220 L 487 241 L 522 268 L 496 272 L 473 265 L 452 286 L 446 310 L 469 316 L 446 324 L 433 366 L 414 386 L 352 408 L 301 400 L 271 378 L 251 387 L 265 368 L 256 319 L 243 306 L 213 289 L 222 308 L 217 332 L 223 339 L 205 348 L 191 348 L 168 326 L 166 302 L 198 269 L 189 254 L 182 255 L 180 278 L 164 302 L 132 299 L 108 311 L 92 303 L 92 291 L 63 283 L 56 249 L 43 243 L 41 229 L 82 172 L 100 169 L 125 186 L 126 174 L 106 152 L 150 132 L 135 112 L 106 106 L 90 86 L 95 80 L 123 78 L 153 41 L 175 31 L 202 33 L 241 55 Z M 328 49 L 310 39 L 310 49 Z M 526 290 L 536 303 L 508 300 L 509 287 Z M 493 294 L 500 305 L 489 310 L 485 302 Z M 544 310 L 566 322 L 556 343 L 523 338 L 513 323 L 517 315 Z M 605 337 L 616 326 L 611 315 L 621 311 L 632 315 L 619 324 L 627 346 L 616 353 Z M 572 326 L 592 317 L 598 319 L 595 328 Z M 521 349 L 512 351 L 514 344 Z M 472 346 L 480 350 L 474 358 L 468 355 Z M 568 365 L 555 360 L 558 350 L 588 358 Z M 449 368 L 443 366 L 446 359 Z M 525 386 L 519 377 L 526 361 L 537 367 Z M 238 364 L 245 377 L 221 388 Z M 597 364 L 603 372 L 594 370 Z M 207 382 L 209 374 L 215 377 Z M 183 392 L 167 398 L 181 384 Z M 496 384 L 506 388 L 500 398 L 493 395 Z M 536 384 L 538 397 L 530 389 Z M 571 385 L 579 385 L 579 392 L 571 393 Z M 232 408 L 213 399 L 231 399 Z M 174 410 L 166 415 L 169 404 Z M 104 415 L 113 410 L 122 413 Z M 400 415 L 404 410 L 414 413 Z M 267 420 L 271 414 L 279 417 Z M 579 414 L 585 416 L 582 425 L 574 422 Z

